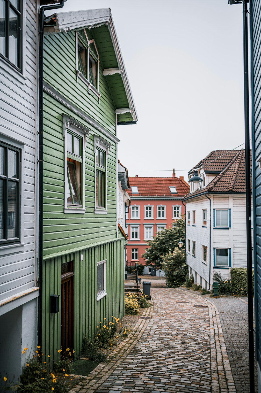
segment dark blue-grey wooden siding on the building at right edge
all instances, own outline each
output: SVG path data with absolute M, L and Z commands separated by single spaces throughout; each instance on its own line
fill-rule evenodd
M 256 357 L 261 359 L 261 2 L 250 0 Z

